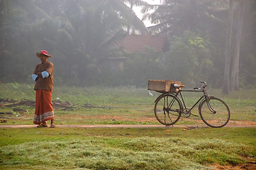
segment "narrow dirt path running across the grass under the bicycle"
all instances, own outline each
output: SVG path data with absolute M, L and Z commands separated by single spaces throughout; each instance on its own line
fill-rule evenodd
M 36 128 L 37 125 L 0 125 L 0 128 Z M 256 128 L 256 125 L 226 125 L 230 128 Z M 208 128 L 206 125 L 56 125 L 55 128 Z

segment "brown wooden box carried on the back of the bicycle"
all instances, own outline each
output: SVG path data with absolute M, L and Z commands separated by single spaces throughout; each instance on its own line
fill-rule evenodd
M 148 80 L 148 90 L 164 92 L 177 92 L 172 84 L 182 85 L 182 81 L 173 80 Z

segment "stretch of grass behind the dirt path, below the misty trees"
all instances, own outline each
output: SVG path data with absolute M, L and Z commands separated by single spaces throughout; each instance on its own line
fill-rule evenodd
M 158 124 L 154 115 L 154 101 L 160 94 L 152 91 L 148 94 L 147 88 L 133 87 L 69 87 L 56 86 L 52 92 L 52 99 L 69 101 L 75 108 L 62 111 L 55 107 L 55 119 L 58 124 Z M 256 90 L 235 91 L 230 95 L 221 94 L 221 89 L 209 89 L 208 94 L 222 98 L 228 103 L 231 112 L 230 123 L 236 124 L 249 120 L 256 120 Z M 201 94 L 184 92 L 188 107 L 193 106 Z M 0 84 L 0 98 L 10 100 L 35 99 L 33 84 Z M 94 108 L 84 108 L 85 105 Z M 27 113 L 15 113 L 13 107 L 25 108 Z M 34 107 L 13 106 L 1 107 L 0 112 L 11 112 L 4 115 L 8 118 L 7 124 L 31 124 Z M 192 111 L 199 115 L 198 108 Z M 199 117 L 181 118 L 177 124 L 203 124 Z

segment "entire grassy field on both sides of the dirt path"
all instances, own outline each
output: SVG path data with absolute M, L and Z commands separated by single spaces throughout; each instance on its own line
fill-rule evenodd
M 256 91 L 222 98 L 231 111 L 230 125 L 255 125 Z M 159 94 L 147 89 L 55 87 L 52 99 L 60 124 L 159 124 L 153 113 Z M 188 106 L 198 96 L 186 94 Z M 0 84 L 2 103 L 33 101 L 33 85 Z M 13 108 L 27 110 L 13 111 Z M 33 124 L 34 106 L 1 106 L 1 125 Z M 198 115 L 198 110 L 194 110 Z M 197 117 L 179 125 L 203 124 Z M 0 169 L 228 169 L 255 162 L 255 128 L 0 128 Z M 220 169 L 221 169 L 220 168 Z

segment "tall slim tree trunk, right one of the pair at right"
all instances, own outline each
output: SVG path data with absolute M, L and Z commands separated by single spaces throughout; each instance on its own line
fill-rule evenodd
M 230 79 L 230 91 L 239 89 L 238 72 L 239 72 L 240 42 L 242 38 L 244 9 L 245 9 L 245 4 L 243 1 L 240 1 L 240 3 L 238 4 L 238 28 L 235 36 L 236 38 L 235 55 L 234 55 L 233 67 L 232 67 L 231 79 Z

